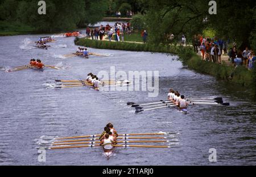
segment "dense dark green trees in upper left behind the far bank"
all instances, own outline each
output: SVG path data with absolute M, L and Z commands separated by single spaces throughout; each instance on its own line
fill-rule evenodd
M 38 0 L 5 0 L 0 20 L 19 21 L 41 32 L 71 30 L 97 23 L 108 10 L 104 0 L 46 0 L 46 15 L 38 14 Z

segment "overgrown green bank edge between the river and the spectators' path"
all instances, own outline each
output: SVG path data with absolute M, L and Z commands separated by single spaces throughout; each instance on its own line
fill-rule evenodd
M 225 61 L 221 65 L 214 64 L 201 60 L 201 57 L 193 52 L 192 47 L 183 47 L 179 45 L 154 45 L 154 44 L 142 44 L 131 42 L 110 42 L 89 40 L 85 38 L 76 38 L 76 45 L 85 47 L 92 47 L 97 49 L 113 49 L 113 50 L 128 50 L 137 52 L 161 52 L 167 54 L 177 54 L 179 60 L 184 66 L 188 66 L 189 69 L 193 69 L 199 73 L 209 74 L 217 79 L 222 79 L 228 82 L 237 83 L 238 85 L 245 87 L 254 87 L 256 80 L 255 71 L 247 70 L 245 67 L 240 66 L 236 69 L 233 66 L 229 66 Z M 231 76 L 231 77 L 230 77 Z

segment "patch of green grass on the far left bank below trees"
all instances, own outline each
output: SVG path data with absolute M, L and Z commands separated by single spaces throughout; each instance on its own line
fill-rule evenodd
M 34 32 L 34 28 L 19 22 L 0 21 L 0 36 L 23 35 Z

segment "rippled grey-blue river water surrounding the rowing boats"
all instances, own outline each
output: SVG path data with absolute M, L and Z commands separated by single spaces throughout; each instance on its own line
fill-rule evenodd
M 44 36 L 44 35 L 41 35 Z M 250 90 L 228 85 L 184 68 L 176 56 L 89 48 L 111 57 L 64 58 L 77 49 L 74 38 L 56 37 L 48 50 L 30 49 L 39 35 L 0 37 L 0 165 L 256 165 L 255 101 Z M 63 69 L 5 72 L 30 58 Z M 88 87 L 47 89 L 55 79 L 83 79 L 89 72 L 159 71 L 159 94 L 147 91 L 95 91 Z M 191 106 L 185 115 L 175 108 L 134 113 L 126 102 L 166 99 L 168 88 L 187 97 L 222 97 L 225 106 Z M 170 149 L 117 149 L 107 161 L 97 147 L 46 150 L 38 161 L 42 137 L 101 133 L 109 122 L 119 133 L 176 132 Z M 160 144 L 161 145 L 161 144 Z M 217 162 L 209 162 L 209 149 Z

